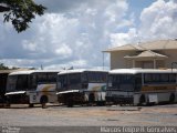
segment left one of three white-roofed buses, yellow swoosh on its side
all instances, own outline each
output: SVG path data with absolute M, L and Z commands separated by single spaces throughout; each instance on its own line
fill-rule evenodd
M 34 104 L 58 102 L 56 76 L 60 70 L 28 70 L 8 75 L 6 96 L 8 104 Z

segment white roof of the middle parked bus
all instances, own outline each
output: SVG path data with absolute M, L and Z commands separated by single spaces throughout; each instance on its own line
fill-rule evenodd
M 105 70 L 93 70 L 93 69 L 75 69 L 75 70 L 64 70 L 64 71 L 61 71 L 60 73 L 58 73 L 59 75 L 60 74 L 69 74 L 69 73 L 82 73 L 82 72 L 108 72 L 108 71 L 105 71 Z

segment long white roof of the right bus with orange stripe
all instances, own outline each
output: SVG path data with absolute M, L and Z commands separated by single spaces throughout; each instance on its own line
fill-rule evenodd
M 177 73 L 177 69 L 116 69 L 110 74 L 137 74 L 137 73 Z

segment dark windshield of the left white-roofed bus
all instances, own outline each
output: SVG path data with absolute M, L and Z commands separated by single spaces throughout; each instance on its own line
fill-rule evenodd
M 7 92 L 28 90 L 28 75 L 10 75 L 8 78 Z

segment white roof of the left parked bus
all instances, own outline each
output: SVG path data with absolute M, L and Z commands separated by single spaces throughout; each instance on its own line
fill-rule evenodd
M 61 72 L 62 70 L 28 70 L 28 71 L 17 71 L 11 72 L 9 75 L 17 75 L 17 74 L 32 74 L 32 73 L 42 73 L 42 72 Z

